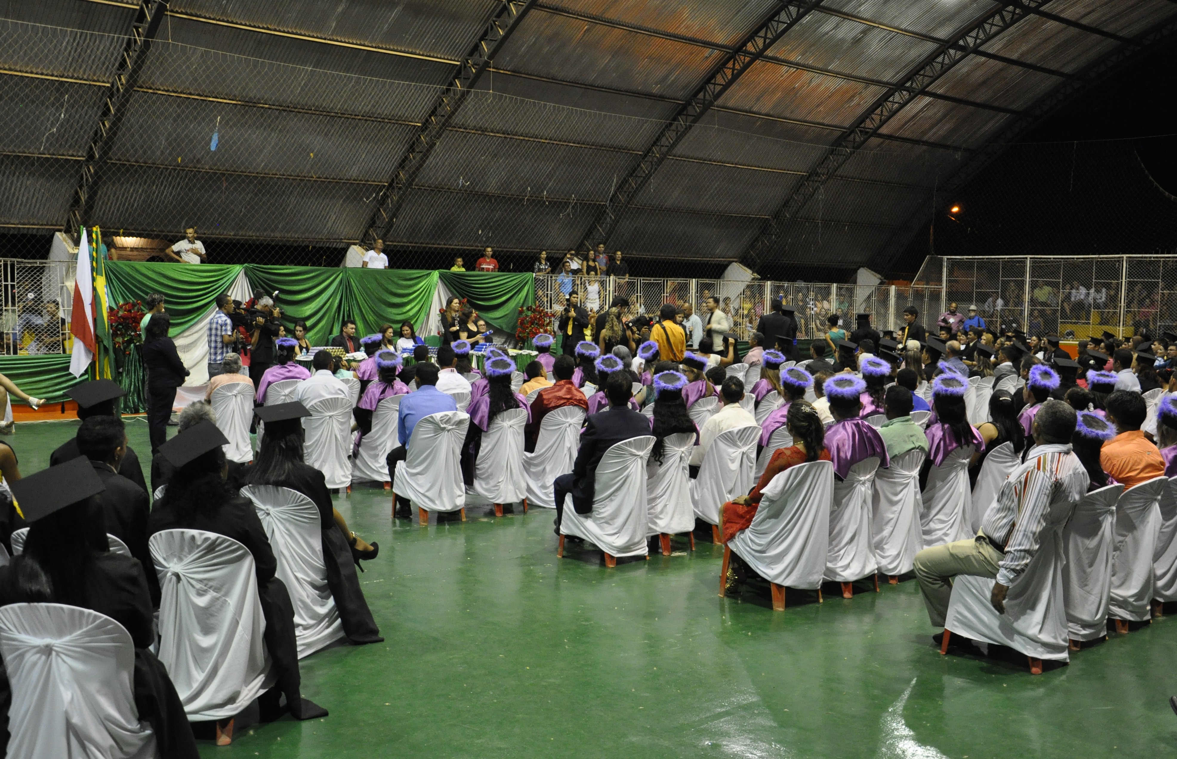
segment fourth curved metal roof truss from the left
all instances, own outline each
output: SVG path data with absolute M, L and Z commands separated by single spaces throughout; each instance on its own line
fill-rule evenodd
M 763 255 L 776 244 L 787 229 L 790 222 L 820 191 L 826 181 L 840 169 L 852 155 L 879 133 L 879 129 L 903 109 L 909 102 L 923 94 L 944 74 L 982 45 L 1010 28 L 1022 19 L 1050 0 L 1020 0 L 1006 2 L 997 11 L 970 22 L 960 29 L 953 40 L 939 46 L 925 58 L 900 85 L 884 93 L 875 104 L 838 139 L 825 157 L 810 171 L 809 175 L 785 199 L 760 234 L 752 241 L 742 257 L 745 265 L 754 267 Z

